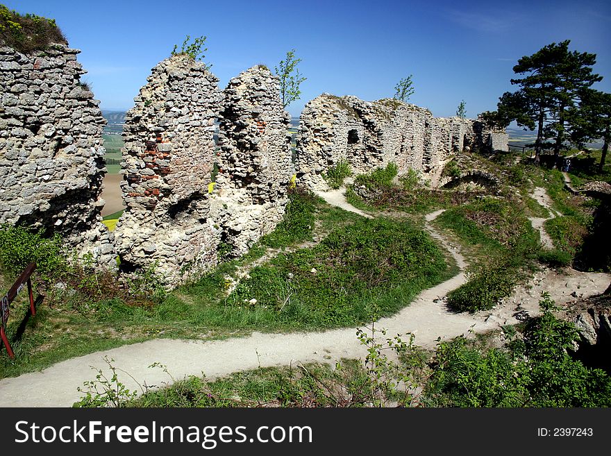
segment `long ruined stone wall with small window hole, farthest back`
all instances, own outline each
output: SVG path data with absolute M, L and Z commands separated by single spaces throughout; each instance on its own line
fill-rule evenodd
M 474 137 L 472 121 L 435 118 L 430 111 L 394 99 L 362 101 L 322 94 L 301 113 L 296 170 L 311 189 L 326 190 L 323 174 L 340 160 L 355 173 L 395 162 L 408 169 L 435 171 L 464 140 Z

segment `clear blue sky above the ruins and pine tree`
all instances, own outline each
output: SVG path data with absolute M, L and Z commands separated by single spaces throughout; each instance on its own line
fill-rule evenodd
M 2 0 L 3 1 L 3 0 Z M 410 102 L 435 116 L 493 110 L 513 90 L 512 67 L 551 42 L 597 54 L 594 87 L 611 92 L 611 2 L 572 1 L 58 1 L 14 0 L 19 12 L 53 17 L 88 74 L 102 108 L 131 108 L 151 68 L 185 35 L 206 35 L 206 62 L 224 88 L 240 71 L 274 69 L 296 49 L 308 78 L 303 105 L 323 92 L 376 100 L 413 74 Z

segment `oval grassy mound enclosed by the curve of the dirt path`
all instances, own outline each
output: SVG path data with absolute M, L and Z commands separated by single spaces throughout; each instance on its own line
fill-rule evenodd
M 258 328 L 335 328 L 396 312 L 450 275 L 418 228 L 365 219 L 253 269 L 218 310 Z

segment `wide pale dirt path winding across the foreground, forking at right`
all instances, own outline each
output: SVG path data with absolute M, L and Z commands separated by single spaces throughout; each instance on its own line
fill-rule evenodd
M 340 207 L 348 205 L 340 201 Z M 354 208 L 353 208 L 354 209 Z M 353 210 L 352 212 L 355 212 Z M 464 267 L 464 258 L 449 245 L 444 237 L 430 226 L 442 211 L 426 216 L 426 230 L 444 244 L 456 260 Z M 357 212 L 358 213 L 358 212 Z M 469 330 L 485 332 L 517 323 L 517 310 L 536 314 L 537 293 L 549 289 L 553 298 L 570 296 L 578 290 L 584 296 L 603 292 L 611 280 L 609 274 L 587 274 L 571 276 L 570 285 L 564 285 L 563 277 L 553 278 L 553 272 L 541 273 L 535 278 L 535 287 L 517 292 L 505 303 L 492 311 L 477 314 L 456 314 L 444 304 L 444 296 L 465 281 L 464 273 L 442 282 L 436 287 L 421 292 L 415 301 L 394 316 L 380 319 L 377 328 L 386 328 L 392 337 L 397 333 L 413 332 L 415 344 L 434 348 L 437 337 L 451 339 Z M 553 278 L 553 280 L 551 280 Z M 549 281 L 551 280 L 551 281 Z M 561 285 L 564 285 L 561 287 Z M 561 292 L 561 293 L 560 293 Z M 524 301 L 521 307 L 516 303 Z M 129 375 L 119 372 L 119 380 L 129 389 L 138 385 L 164 385 L 171 378 L 161 369 L 148 366 L 158 362 L 167 366 L 174 380 L 186 375 L 205 374 L 208 379 L 228 375 L 236 371 L 256 369 L 259 366 L 277 366 L 295 362 L 330 362 L 341 358 L 365 356 L 365 348 L 356 338 L 356 328 L 329 330 L 325 332 L 297 332 L 291 334 L 263 334 L 253 332 L 249 337 L 222 341 L 193 341 L 155 339 L 142 344 L 122 346 L 108 351 L 91 353 L 54 364 L 41 372 L 26 373 L 18 378 L 0 380 L 0 407 L 69 407 L 81 397 L 77 387 L 85 380 L 92 380 L 95 372 L 90 366 L 104 368 L 103 358 L 110 357 L 112 364 Z

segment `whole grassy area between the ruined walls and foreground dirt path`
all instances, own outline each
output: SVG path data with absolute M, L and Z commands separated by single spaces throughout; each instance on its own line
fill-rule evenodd
M 118 215 L 110 214 L 107 221 Z M 313 237 L 324 239 L 318 246 L 299 248 L 303 242 L 312 243 Z M 2 245 L 23 244 L 14 240 L 10 238 Z M 61 242 L 55 245 L 61 246 Z M 272 246 L 285 251 L 252 269 L 250 278 L 227 296 L 226 278 L 235 277 L 238 268 L 258 260 Z M 47 256 L 62 258 L 60 254 Z M 15 254 L 8 257 L 15 258 Z M 312 268 L 317 273 L 311 273 Z M 7 276 L 6 264 L 2 271 Z M 291 280 L 287 280 L 289 272 L 293 274 Z M 150 298 L 155 293 L 154 282 L 151 285 L 145 281 L 140 288 L 133 285 L 144 290 L 136 295 L 112 277 L 87 271 L 80 275 L 71 272 L 65 278 L 56 275 L 48 282 L 35 278 L 35 289 L 47 298 L 37 316 L 29 319 L 21 337 L 12 343 L 15 360 L 0 354 L 0 377 L 159 337 L 221 339 L 246 335 L 251 330 L 319 330 L 352 325 L 369 321 L 374 312 L 395 312 L 408 305 L 420 289 L 452 273 L 455 267 L 446 266 L 442 252 L 416 226 L 364 221 L 357 214 L 331 207 L 298 190 L 291 195 L 285 221 L 244 257 L 221 263 L 196 282 L 154 301 Z M 10 280 L 7 277 L 6 283 Z M 67 289 L 63 290 L 64 285 L 56 288 L 58 282 L 65 283 Z M 256 305 L 243 302 L 255 296 Z M 290 302 L 283 307 L 287 296 Z M 337 303 L 336 297 L 340 298 Z M 24 296 L 19 298 L 25 300 Z M 10 338 L 17 334 L 26 301 L 15 306 L 21 307 L 12 307 Z

